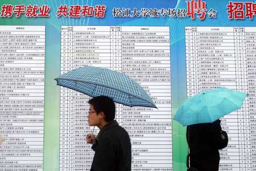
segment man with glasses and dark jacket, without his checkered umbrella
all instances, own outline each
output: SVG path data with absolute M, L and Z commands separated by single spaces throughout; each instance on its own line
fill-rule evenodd
M 92 149 L 95 151 L 90 171 L 130 171 L 131 141 L 125 129 L 114 120 L 113 99 L 99 96 L 88 103 L 88 124 L 100 129 L 97 137 L 86 135 L 86 142 L 93 144 Z

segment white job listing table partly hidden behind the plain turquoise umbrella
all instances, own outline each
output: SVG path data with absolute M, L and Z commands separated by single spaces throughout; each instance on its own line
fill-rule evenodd
M 186 27 L 187 96 L 225 86 L 249 94 L 221 119 L 220 170 L 256 170 L 256 27 Z

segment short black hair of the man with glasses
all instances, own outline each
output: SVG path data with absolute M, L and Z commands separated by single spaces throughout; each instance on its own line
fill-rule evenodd
M 105 95 L 101 95 L 90 99 L 88 103 L 90 105 L 93 105 L 93 108 L 97 114 L 101 111 L 104 112 L 106 122 L 114 120 L 115 103 L 112 98 Z

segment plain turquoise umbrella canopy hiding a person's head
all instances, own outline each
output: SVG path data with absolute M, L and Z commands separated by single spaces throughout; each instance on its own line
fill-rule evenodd
M 183 126 L 211 123 L 237 109 L 241 109 L 246 94 L 241 91 L 219 87 L 205 90 L 187 98 L 177 110 L 174 120 Z

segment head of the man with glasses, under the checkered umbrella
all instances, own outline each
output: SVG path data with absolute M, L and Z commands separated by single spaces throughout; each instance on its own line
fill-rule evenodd
M 110 122 L 115 118 L 115 103 L 112 98 L 101 95 L 88 101 L 90 104 L 89 126 L 99 126 L 101 122 Z

